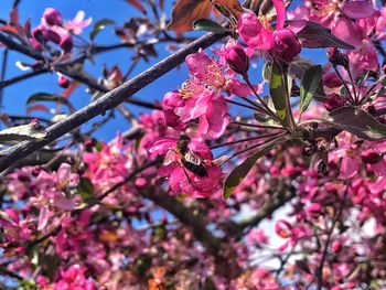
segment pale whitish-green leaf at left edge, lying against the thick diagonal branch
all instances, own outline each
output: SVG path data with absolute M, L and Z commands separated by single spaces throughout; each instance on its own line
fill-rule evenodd
M 0 143 L 13 144 L 19 141 L 42 141 L 45 136 L 46 131 L 43 126 L 31 122 L 0 131 Z

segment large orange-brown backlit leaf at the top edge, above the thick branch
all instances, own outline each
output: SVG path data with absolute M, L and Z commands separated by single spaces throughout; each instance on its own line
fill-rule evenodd
M 179 0 L 173 7 L 168 30 L 176 33 L 190 31 L 193 29 L 192 24 L 195 20 L 210 15 L 211 9 L 210 0 Z

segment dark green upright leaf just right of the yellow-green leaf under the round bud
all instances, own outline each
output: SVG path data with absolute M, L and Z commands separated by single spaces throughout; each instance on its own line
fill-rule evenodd
M 313 94 L 322 85 L 322 66 L 315 65 L 310 67 L 303 74 L 300 82 L 300 112 L 303 112 L 309 107 Z

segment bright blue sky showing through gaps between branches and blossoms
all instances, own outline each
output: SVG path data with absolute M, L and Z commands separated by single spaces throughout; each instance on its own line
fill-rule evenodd
M 9 11 L 11 9 L 13 0 L 1 0 L 1 7 L 0 7 L 0 18 L 1 19 L 8 19 Z M 165 1 L 167 4 L 167 11 L 168 17 L 170 15 L 171 11 L 171 3 L 172 1 Z M 296 1 L 299 2 L 299 1 Z M 108 4 L 106 4 L 108 3 Z M 86 17 L 93 17 L 93 22 L 100 20 L 100 19 L 112 19 L 117 25 L 121 25 L 125 23 L 129 18 L 136 15 L 141 17 L 142 14 L 130 7 L 126 1 L 124 0 L 22 0 L 21 6 L 19 9 L 19 14 L 21 22 L 23 23 L 25 20 L 31 18 L 32 20 L 32 26 L 35 26 L 40 23 L 41 15 L 45 8 L 53 7 L 56 8 L 58 11 L 61 11 L 64 19 L 72 19 L 75 17 L 76 12 L 78 10 L 84 10 L 86 12 Z M 92 30 L 93 24 L 85 30 L 85 32 L 82 34 L 85 39 L 88 39 L 88 34 Z M 96 42 L 98 44 L 112 44 L 119 42 L 119 40 L 111 33 L 112 26 L 106 28 L 104 32 L 101 32 L 97 39 Z M 196 33 L 197 34 L 197 33 Z M 200 33 L 201 34 L 201 33 Z M 159 58 L 151 58 L 150 63 L 141 62 L 137 68 L 135 69 L 132 76 L 141 73 L 146 68 L 150 67 L 156 61 L 159 61 L 167 55 L 169 55 L 169 52 L 165 50 L 165 47 L 160 44 L 159 46 Z M 2 50 L 1 50 L 2 51 Z M 319 57 L 323 57 L 323 52 L 318 52 L 315 54 L 315 51 L 307 51 L 303 50 L 302 54 L 304 56 L 311 57 L 318 60 Z M 119 66 L 125 69 L 129 67 L 131 63 L 131 52 L 129 50 L 117 50 L 114 52 L 105 53 L 98 55 L 96 57 L 95 65 L 90 64 L 89 62 L 86 65 L 86 69 L 92 73 L 95 77 L 98 77 L 101 72 L 103 64 L 107 64 L 108 67 L 111 67 L 112 65 L 119 64 Z M 15 52 L 11 52 L 9 54 L 9 65 L 7 71 L 7 78 L 17 76 L 22 74 L 17 66 L 17 61 L 24 61 L 31 63 L 31 58 L 23 57 L 20 54 Z M 320 62 L 320 58 L 318 60 Z M 260 69 L 261 66 L 258 67 L 255 72 L 251 72 L 251 79 L 257 82 L 260 79 Z M 180 69 L 174 69 L 170 72 L 169 74 L 164 75 L 153 84 L 149 85 L 141 92 L 139 92 L 136 97 L 141 98 L 143 100 L 150 100 L 153 101 L 156 99 L 162 99 L 163 95 L 167 92 L 173 90 L 178 88 L 181 83 L 187 77 L 186 67 L 182 65 Z M 29 96 L 31 96 L 34 93 L 44 92 L 44 93 L 51 93 L 51 94 L 57 94 L 61 93 L 61 88 L 56 85 L 56 75 L 43 75 L 37 76 L 34 78 L 31 78 L 29 80 L 24 80 L 22 83 L 19 83 L 17 85 L 7 87 L 4 89 L 3 95 L 3 108 L 2 112 L 7 114 L 22 114 L 25 115 L 25 100 Z M 90 96 L 85 92 L 85 87 L 82 87 L 76 90 L 76 93 L 71 97 L 71 100 L 73 104 L 81 108 L 83 106 L 86 106 L 90 101 Z M 135 114 L 140 114 L 143 111 L 149 111 L 143 108 L 130 106 L 130 109 Z M 237 108 L 236 111 L 239 111 Z M 117 131 L 125 131 L 128 129 L 127 121 L 120 116 L 119 112 L 116 114 L 116 120 L 110 121 L 107 123 L 103 129 L 100 129 L 96 137 L 98 139 L 108 141 L 111 138 L 114 138 L 117 133 Z

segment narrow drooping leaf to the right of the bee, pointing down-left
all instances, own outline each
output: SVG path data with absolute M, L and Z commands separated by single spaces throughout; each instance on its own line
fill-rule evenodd
M 286 141 L 287 138 L 281 137 L 267 142 L 266 144 L 261 146 L 257 152 L 248 157 L 238 167 L 236 167 L 225 180 L 223 198 L 228 198 L 232 195 L 259 158 L 266 155 L 270 150 Z

